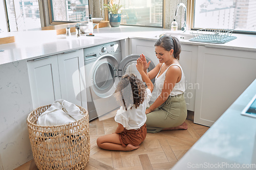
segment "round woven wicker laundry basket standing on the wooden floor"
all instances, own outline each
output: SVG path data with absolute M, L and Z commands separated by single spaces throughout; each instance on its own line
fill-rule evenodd
M 90 135 L 88 111 L 84 117 L 59 126 L 39 126 L 38 117 L 51 105 L 29 113 L 27 125 L 34 161 L 38 169 L 84 169 L 89 161 Z

